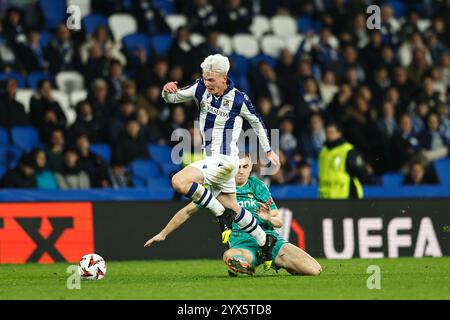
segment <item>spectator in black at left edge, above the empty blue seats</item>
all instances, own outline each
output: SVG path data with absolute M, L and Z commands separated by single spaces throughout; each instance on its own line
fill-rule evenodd
M 0 127 L 7 130 L 29 123 L 25 107 L 16 100 L 16 94 L 17 81 L 9 79 L 6 82 L 6 92 L 0 97 Z

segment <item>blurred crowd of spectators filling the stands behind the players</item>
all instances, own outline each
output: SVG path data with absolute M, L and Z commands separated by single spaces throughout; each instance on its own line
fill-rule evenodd
M 131 1 L 127 9 L 122 3 L 92 0 L 91 12 L 127 11 L 136 17 L 139 32 L 171 32 L 164 12 L 151 2 Z M 345 139 L 363 155 L 372 175 L 369 183 L 376 184 L 386 172 L 401 172 L 405 184 L 438 183 L 430 164 L 447 157 L 450 147 L 449 0 L 404 1 L 402 17 L 389 1 L 174 3 L 188 24 L 159 57 L 142 48 L 125 52 L 104 26 L 86 34 L 61 24 L 42 46 L 39 19 L 29 24 L 20 7 L 4 8 L 0 72 L 76 70 L 88 90 L 87 99 L 76 106 L 75 122 L 67 126 L 51 80 L 39 82 L 29 113 L 15 99 L 17 81 L 4 81 L 0 127 L 33 125 L 44 144 L 6 173 L 4 187 L 130 186 L 127 165 L 151 157 L 150 143 L 171 145 L 172 131 L 192 129 L 196 118 L 193 103 L 165 104 L 162 86 L 178 81 L 182 87 L 200 77 L 201 61 L 223 53 L 220 34 L 250 33 L 256 15 L 307 16 L 316 26 L 304 34 L 296 52 L 283 49 L 274 63 L 250 63 L 242 82 L 268 129 L 280 129 L 282 170 L 268 178 L 270 183 L 317 183 L 314 166 L 330 120 L 342 126 Z M 381 7 L 379 30 L 366 27 L 369 4 Z M 193 33 L 205 41 L 194 45 Z M 230 57 L 231 77 L 238 58 Z M 89 150 L 90 143 L 111 145 L 111 166 Z

